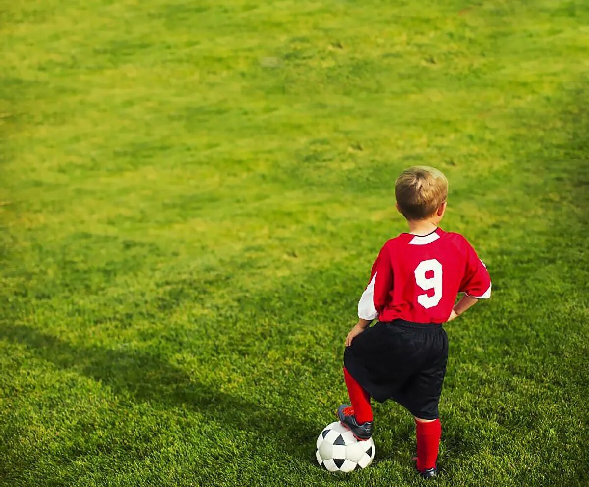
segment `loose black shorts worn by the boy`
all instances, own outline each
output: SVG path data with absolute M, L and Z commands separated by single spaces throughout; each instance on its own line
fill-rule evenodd
M 393 399 L 413 416 L 439 417 L 438 403 L 448 361 L 441 323 L 378 322 L 353 339 L 343 364 L 370 397 Z

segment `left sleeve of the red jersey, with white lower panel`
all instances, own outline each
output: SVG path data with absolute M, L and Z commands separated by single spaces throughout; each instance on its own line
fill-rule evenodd
M 393 271 L 389 251 L 386 247 L 380 253 L 370 272 L 370 281 L 358 303 L 358 316 L 364 320 L 374 320 L 388 303 L 393 287 Z

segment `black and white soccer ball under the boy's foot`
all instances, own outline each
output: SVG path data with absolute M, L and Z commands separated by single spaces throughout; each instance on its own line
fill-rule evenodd
M 348 428 L 335 421 L 327 425 L 317 438 L 315 456 L 319 465 L 330 472 L 351 472 L 372 463 L 374 442 L 372 438 L 357 440 Z

